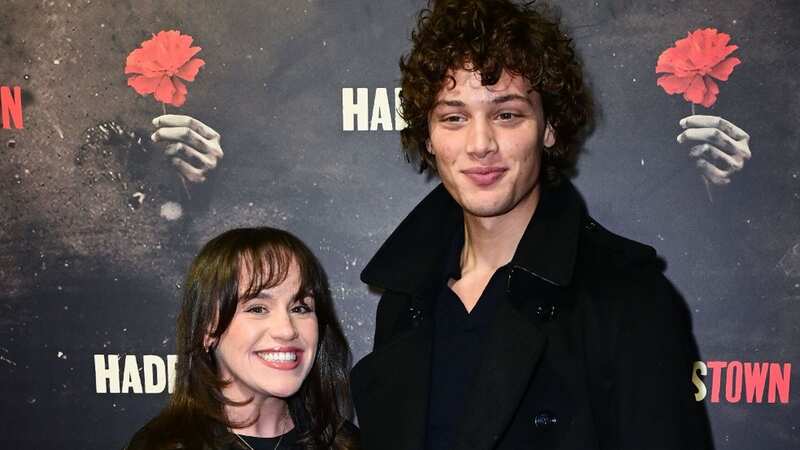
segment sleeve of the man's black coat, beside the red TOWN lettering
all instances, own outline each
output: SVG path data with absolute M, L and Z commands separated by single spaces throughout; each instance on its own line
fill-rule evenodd
M 688 306 L 660 270 L 643 269 L 631 283 L 617 338 L 620 448 L 712 449 L 691 383 L 700 357 Z

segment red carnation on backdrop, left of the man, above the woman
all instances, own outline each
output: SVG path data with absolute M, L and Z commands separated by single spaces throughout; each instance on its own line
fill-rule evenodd
M 191 45 L 192 37 L 176 30 L 160 31 L 142 42 L 125 61 L 125 74 L 133 74 L 128 86 L 141 95 L 154 94 L 161 103 L 183 105 L 188 91 L 181 80 L 194 81 L 205 64 L 193 58 L 201 49 Z

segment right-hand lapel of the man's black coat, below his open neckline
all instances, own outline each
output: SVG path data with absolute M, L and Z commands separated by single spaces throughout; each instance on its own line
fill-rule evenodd
M 499 305 L 454 449 L 494 448 L 514 417 L 545 344 L 541 328 L 511 302 Z

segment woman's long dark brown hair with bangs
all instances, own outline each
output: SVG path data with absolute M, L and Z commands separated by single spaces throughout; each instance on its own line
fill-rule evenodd
M 206 335 L 218 342 L 239 302 L 282 283 L 293 262 L 300 269 L 298 295 L 314 298 L 319 347 L 308 377 L 287 399 L 289 412 L 303 448 L 355 448 L 345 424 L 352 418 L 351 355 L 327 277 L 302 241 L 268 227 L 227 231 L 203 246 L 192 262 L 177 321 L 175 392 L 161 414 L 143 429 L 145 436 L 138 436 L 140 443 L 144 440 L 153 449 L 236 445 L 229 429 L 243 424 L 231 423 L 225 415 L 224 406 L 237 403 L 222 393 L 228 381 L 219 377 L 213 351 L 206 348 Z

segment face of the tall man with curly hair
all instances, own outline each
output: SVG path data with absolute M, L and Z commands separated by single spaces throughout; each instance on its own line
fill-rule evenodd
M 503 72 L 492 86 L 480 74 L 451 71 L 429 115 L 428 151 L 450 195 L 468 214 L 501 216 L 539 189 L 542 146 L 555 143 L 538 92 Z

